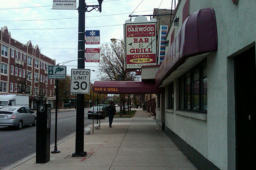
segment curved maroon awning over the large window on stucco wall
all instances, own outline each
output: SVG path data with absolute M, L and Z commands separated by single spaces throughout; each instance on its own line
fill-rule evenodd
M 159 87 L 164 79 L 189 57 L 198 57 L 202 56 L 201 54 L 217 51 L 217 38 L 214 9 L 204 8 L 192 13 L 183 22 L 157 71 L 156 86 Z

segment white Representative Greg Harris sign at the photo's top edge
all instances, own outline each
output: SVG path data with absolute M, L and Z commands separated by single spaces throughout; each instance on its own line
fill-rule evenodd
M 76 0 L 53 0 L 52 9 L 76 9 Z

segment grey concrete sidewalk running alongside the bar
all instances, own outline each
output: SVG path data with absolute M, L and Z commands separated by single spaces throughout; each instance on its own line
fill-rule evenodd
M 35 164 L 35 154 L 12 164 L 12 170 L 197 170 L 144 111 L 134 118 L 103 120 L 100 130 L 84 135 L 86 157 L 71 157 L 75 135 L 58 144 L 46 164 Z M 52 149 L 51 149 L 52 150 Z

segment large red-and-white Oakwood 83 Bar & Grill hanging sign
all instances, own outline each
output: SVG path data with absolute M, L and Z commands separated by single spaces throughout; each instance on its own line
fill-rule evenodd
M 152 18 L 138 16 L 134 21 L 125 21 L 125 65 L 126 69 L 140 69 L 143 65 L 156 65 L 156 22 Z

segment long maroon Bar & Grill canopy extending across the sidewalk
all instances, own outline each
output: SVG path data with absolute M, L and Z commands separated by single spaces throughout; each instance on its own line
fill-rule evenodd
M 93 92 L 100 94 L 157 94 L 163 88 L 156 88 L 154 81 L 95 81 Z

